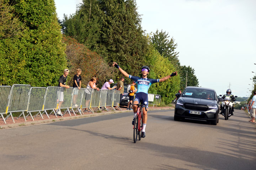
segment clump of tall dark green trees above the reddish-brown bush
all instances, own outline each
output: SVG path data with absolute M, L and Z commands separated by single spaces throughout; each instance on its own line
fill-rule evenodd
M 63 24 L 66 35 L 84 43 L 107 62 L 116 61 L 130 74 L 139 74 L 148 39 L 134 0 L 84 0 Z M 83 34 L 84 30 L 89 33 Z

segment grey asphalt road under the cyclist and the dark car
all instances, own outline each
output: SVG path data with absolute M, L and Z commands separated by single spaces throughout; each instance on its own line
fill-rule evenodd
M 244 111 L 217 126 L 148 112 L 133 143 L 131 112 L 0 130 L 2 170 L 256 169 L 256 126 Z

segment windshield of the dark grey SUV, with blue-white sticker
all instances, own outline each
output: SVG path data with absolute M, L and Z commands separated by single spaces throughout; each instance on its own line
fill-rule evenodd
M 203 98 L 209 100 L 215 100 L 215 95 L 213 90 L 206 89 L 185 89 L 182 93 L 182 97 L 193 97 L 193 98 Z

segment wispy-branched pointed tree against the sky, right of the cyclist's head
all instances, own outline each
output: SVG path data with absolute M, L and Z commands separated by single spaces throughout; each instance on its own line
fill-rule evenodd
M 153 43 L 155 49 L 165 58 L 168 58 L 169 61 L 175 66 L 180 66 L 180 61 L 178 60 L 178 53 L 176 52 L 177 44 L 174 43 L 174 38 L 172 37 L 171 40 L 169 40 L 170 36 L 168 33 L 159 32 L 156 30 L 155 33 L 153 33 L 153 36 L 151 36 L 151 42 Z

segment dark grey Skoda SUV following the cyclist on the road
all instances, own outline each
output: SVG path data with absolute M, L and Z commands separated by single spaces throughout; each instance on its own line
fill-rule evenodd
M 203 87 L 186 87 L 175 104 L 174 120 L 199 119 L 209 121 L 213 125 L 219 123 L 219 102 L 215 90 Z

